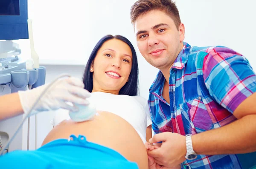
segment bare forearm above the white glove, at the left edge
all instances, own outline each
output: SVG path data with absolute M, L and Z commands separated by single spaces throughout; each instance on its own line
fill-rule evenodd
M 0 120 L 23 113 L 18 93 L 0 96 Z

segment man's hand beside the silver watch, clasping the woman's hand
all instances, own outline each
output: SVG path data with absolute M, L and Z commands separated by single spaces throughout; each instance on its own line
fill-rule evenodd
M 154 162 L 165 167 L 176 167 L 186 160 L 186 137 L 177 133 L 163 132 L 154 135 L 149 140 L 149 143 L 162 142 L 162 145 L 157 149 L 148 150 L 149 162 L 151 165 L 151 157 Z M 150 161 L 151 160 L 151 161 Z M 150 168 L 158 169 L 158 168 Z M 168 168 L 159 168 L 168 169 Z

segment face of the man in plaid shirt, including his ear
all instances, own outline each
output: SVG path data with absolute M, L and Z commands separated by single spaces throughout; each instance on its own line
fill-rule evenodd
M 145 60 L 160 70 L 170 69 L 183 47 L 183 23 L 177 29 L 169 15 L 153 10 L 140 15 L 134 29 L 137 46 Z

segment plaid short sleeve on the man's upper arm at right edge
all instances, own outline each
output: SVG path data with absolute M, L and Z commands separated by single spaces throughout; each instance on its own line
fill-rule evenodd
M 223 46 L 208 49 L 203 76 L 212 98 L 233 113 L 247 97 L 256 92 L 256 75 L 248 60 Z

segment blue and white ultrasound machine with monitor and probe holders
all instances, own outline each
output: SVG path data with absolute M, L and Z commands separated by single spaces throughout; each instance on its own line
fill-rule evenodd
M 27 0 L 0 1 L 0 7 L 0 40 L 5 40 L 0 41 L 0 96 L 43 85 L 46 69 L 39 66 L 38 55 L 32 52 L 35 49 L 32 22 L 28 20 Z M 28 57 L 23 56 L 17 42 L 13 42 L 20 39 L 30 40 L 32 56 L 29 60 L 25 59 Z M 3 146 L 15 132 L 13 124 L 18 124 L 21 120 L 23 115 L 0 121 L 0 143 Z M 36 142 L 37 116 L 33 116 L 24 123 L 9 147 L 3 151 L 7 153 L 16 149 L 36 149 Z

